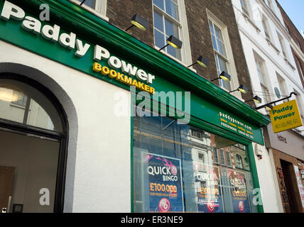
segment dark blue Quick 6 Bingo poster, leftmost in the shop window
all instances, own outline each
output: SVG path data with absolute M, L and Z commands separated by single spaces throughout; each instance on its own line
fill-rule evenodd
M 180 160 L 143 153 L 148 171 L 150 212 L 183 212 Z M 147 189 L 147 188 L 146 188 Z

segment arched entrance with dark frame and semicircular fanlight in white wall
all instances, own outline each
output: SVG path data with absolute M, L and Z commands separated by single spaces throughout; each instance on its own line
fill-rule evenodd
M 67 117 L 46 87 L 0 74 L 0 208 L 63 212 Z

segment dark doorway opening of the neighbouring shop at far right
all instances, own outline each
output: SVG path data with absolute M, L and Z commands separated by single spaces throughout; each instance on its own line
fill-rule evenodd
M 298 206 L 297 206 L 297 198 L 296 198 L 297 192 L 295 192 L 295 189 L 297 186 L 293 184 L 293 182 L 294 182 L 293 178 L 295 175 L 294 170 L 293 170 L 293 165 L 290 162 L 281 160 L 281 167 L 282 167 L 282 172 L 283 172 L 283 176 L 284 176 L 286 194 L 288 197 L 288 204 L 289 204 L 291 213 L 301 212 L 301 210 L 299 210 Z

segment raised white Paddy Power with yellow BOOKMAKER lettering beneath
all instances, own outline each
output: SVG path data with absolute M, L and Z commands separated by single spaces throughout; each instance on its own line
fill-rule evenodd
M 63 48 L 75 50 L 75 56 L 79 58 L 85 56 L 88 50 L 92 48 L 89 43 L 78 39 L 75 33 L 60 34 L 61 28 L 56 24 L 43 26 L 37 18 L 26 16 L 23 9 L 9 1 L 4 2 L 0 18 L 4 21 L 9 21 L 10 19 L 22 21 L 21 28 L 25 31 L 41 35 L 45 40 L 53 43 L 59 43 Z M 94 61 L 94 65 L 92 65 L 94 72 L 100 72 L 104 76 L 108 76 L 111 79 L 115 78 L 118 82 L 135 86 L 137 89 L 150 94 L 155 93 L 155 89 L 151 87 L 155 76 L 111 55 L 106 48 L 100 45 L 94 46 Z M 106 64 L 101 65 L 98 63 L 99 61 L 105 61 Z M 121 70 L 122 73 L 116 70 Z

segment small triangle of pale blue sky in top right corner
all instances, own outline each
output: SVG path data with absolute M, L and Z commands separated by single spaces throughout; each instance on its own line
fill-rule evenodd
M 304 31 L 304 0 L 278 0 L 298 31 Z

